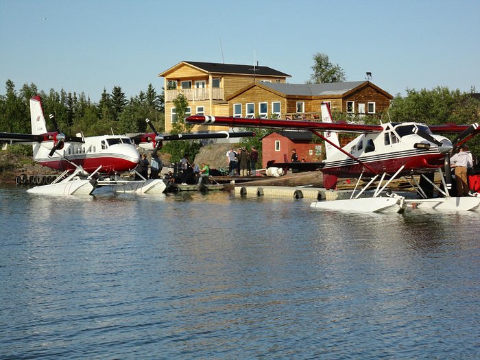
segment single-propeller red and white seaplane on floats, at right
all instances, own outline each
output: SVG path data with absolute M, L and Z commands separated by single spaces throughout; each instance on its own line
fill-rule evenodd
M 202 125 L 228 125 L 238 128 L 278 128 L 290 130 L 309 130 L 325 141 L 326 160 L 322 164 L 324 187 L 335 189 L 337 179 L 363 176 L 372 177 L 359 193 L 353 191 L 350 199 L 319 201 L 311 204 L 314 208 L 357 211 L 396 211 L 403 212 L 407 204 L 418 208 L 450 210 L 472 210 L 479 206 L 478 194 L 471 197 L 450 197 L 451 188 L 450 155 L 453 149 L 479 132 L 478 124 L 473 125 L 436 125 L 422 123 L 384 123 L 366 125 L 356 123 L 333 123 L 328 104 L 322 103 L 322 122 L 280 119 L 245 119 L 238 117 L 190 116 L 186 122 Z M 323 132 L 323 134 L 321 133 Z M 337 132 L 360 133 L 346 146 L 339 145 Z M 459 134 L 454 141 L 435 133 Z M 275 165 L 274 165 L 275 166 Z M 441 168 L 445 166 L 446 181 Z M 437 187 L 425 173 L 439 171 L 444 189 Z M 444 197 L 427 199 L 427 195 L 416 182 L 413 175 L 421 174 Z M 404 196 L 388 194 L 385 188 L 394 178 L 407 177 L 416 186 L 423 199 L 407 200 Z M 374 193 L 365 197 L 365 190 L 374 180 L 379 183 Z M 385 183 L 383 183 L 385 181 Z M 359 184 L 357 183 L 357 186 Z

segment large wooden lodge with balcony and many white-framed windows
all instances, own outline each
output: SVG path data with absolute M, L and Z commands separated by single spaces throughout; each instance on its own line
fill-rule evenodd
M 320 119 L 320 104 L 352 116 L 389 108 L 392 95 L 369 81 L 287 84 L 290 75 L 269 67 L 182 61 L 158 74 L 165 81 L 165 131 L 176 121 L 173 99 L 183 93 L 187 115 Z M 193 131 L 226 130 L 196 126 Z

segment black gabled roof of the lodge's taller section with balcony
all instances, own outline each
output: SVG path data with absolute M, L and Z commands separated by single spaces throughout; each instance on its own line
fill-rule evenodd
M 241 65 L 241 64 L 222 64 L 219 62 L 200 62 L 200 61 L 182 61 L 176 64 L 174 67 L 163 71 L 158 76 L 165 77 L 166 74 L 178 69 L 183 65 L 190 65 L 204 71 L 205 73 L 222 73 L 222 74 L 241 74 L 241 75 L 261 75 L 261 76 L 280 76 L 290 77 L 286 73 L 272 69 L 271 67 L 254 67 L 253 65 Z

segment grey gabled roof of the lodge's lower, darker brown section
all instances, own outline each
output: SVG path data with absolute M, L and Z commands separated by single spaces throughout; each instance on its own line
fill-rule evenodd
M 379 88 L 375 84 L 372 84 L 369 81 L 355 81 L 355 82 L 328 82 L 324 84 L 287 84 L 287 83 L 274 83 L 274 82 L 256 82 L 255 84 L 250 84 L 237 91 L 237 93 L 232 94 L 228 97 L 227 100 L 236 97 L 240 93 L 247 91 L 253 86 L 259 86 L 265 88 L 265 90 L 270 90 L 278 95 L 287 96 L 300 96 L 300 97 L 338 97 L 345 96 L 348 93 L 356 91 L 359 88 L 365 86 L 372 86 L 377 91 L 383 93 L 386 97 L 393 99 L 394 97 Z

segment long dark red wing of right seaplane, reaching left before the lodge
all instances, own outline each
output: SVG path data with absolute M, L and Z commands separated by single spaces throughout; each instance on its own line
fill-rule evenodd
M 318 130 L 339 132 L 381 132 L 381 125 L 365 125 L 355 123 L 323 123 L 320 121 L 283 120 L 283 119 L 251 119 L 242 117 L 211 117 L 192 115 L 185 119 L 194 125 L 219 125 L 235 128 L 277 128 L 293 130 Z

